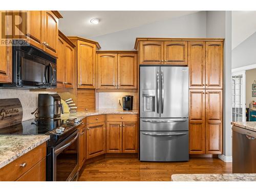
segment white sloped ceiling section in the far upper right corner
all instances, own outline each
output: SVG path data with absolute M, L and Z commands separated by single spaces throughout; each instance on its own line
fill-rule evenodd
M 232 11 L 232 49 L 256 32 L 256 11 Z

